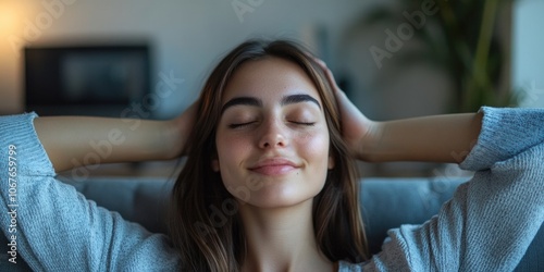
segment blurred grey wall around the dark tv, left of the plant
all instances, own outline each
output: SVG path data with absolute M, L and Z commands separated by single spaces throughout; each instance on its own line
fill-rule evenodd
M 325 44 L 334 50 L 342 29 L 368 4 L 360 0 L 2 0 L 0 114 L 23 111 L 20 50 L 24 45 L 149 38 L 156 58 L 152 85 L 164 77 L 160 74 L 175 78 L 175 91 L 159 101 L 157 111 L 158 116 L 170 118 L 196 99 L 210 69 L 240 41 L 283 37 L 317 47 L 317 34 L 325 29 Z

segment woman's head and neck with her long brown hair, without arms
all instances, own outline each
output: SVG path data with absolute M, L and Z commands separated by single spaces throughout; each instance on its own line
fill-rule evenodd
M 244 44 L 211 73 L 201 100 L 172 201 L 184 263 L 257 271 L 282 252 L 319 271 L 366 257 L 354 163 L 334 94 L 310 57 L 288 42 Z M 224 222 L 203 209 L 224 206 Z

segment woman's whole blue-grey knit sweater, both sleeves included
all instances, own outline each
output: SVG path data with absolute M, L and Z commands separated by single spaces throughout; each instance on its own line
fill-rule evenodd
M 544 221 L 544 110 L 482 111 L 478 144 L 460 164 L 477 171 L 473 178 L 436 217 L 391 230 L 382 252 L 366 263 L 341 262 L 341 271 L 516 268 Z M 24 258 L 36 271 L 180 270 L 164 235 L 54 178 L 34 118 L 0 118 L 0 228 L 16 244 L 13 260 Z

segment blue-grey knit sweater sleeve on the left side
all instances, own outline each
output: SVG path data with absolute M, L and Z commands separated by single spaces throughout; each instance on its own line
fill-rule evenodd
M 178 268 L 164 235 L 97 207 L 54 178 L 34 113 L 0 118 L 0 228 L 35 271 L 150 271 Z

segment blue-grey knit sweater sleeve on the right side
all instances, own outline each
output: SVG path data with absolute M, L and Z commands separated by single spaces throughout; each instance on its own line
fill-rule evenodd
M 544 221 L 544 110 L 483 108 L 478 171 L 438 214 L 391 230 L 374 271 L 512 271 Z

